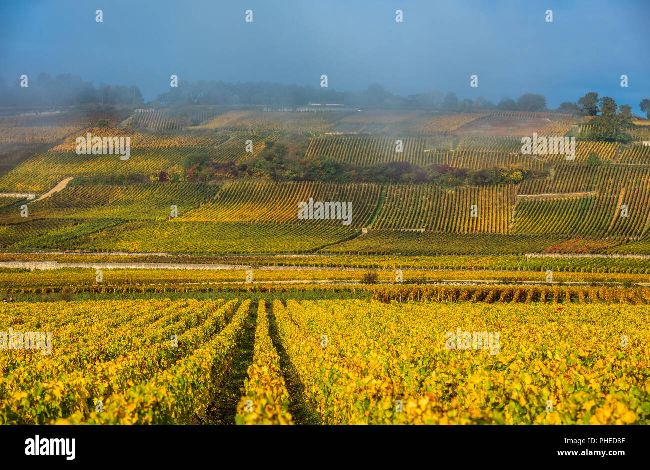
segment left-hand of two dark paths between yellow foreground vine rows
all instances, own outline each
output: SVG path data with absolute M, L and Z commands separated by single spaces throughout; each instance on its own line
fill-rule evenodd
M 255 329 L 257 328 L 257 302 L 251 304 L 244 335 L 237 348 L 233 366 L 226 376 L 211 404 L 204 424 L 235 424 L 237 404 L 244 396 L 244 380 L 248 377 L 248 366 L 253 363 Z

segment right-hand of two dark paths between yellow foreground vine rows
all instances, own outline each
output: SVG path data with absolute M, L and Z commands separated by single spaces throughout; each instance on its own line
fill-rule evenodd
M 289 360 L 289 355 L 282 345 L 272 303 L 269 302 L 266 304 L 266 311 L 268 313 L 268 333 L 280 356 L 282 376 L 287 385 L 287 391 L 289 391 L 289 413 L 291 413 L 293 423 L 322 424 L 322 419 L 315 410 L 315 407 L 305 400 L 305 385 L 300 380 L 298 372 L 293 367 L 291 360 Z

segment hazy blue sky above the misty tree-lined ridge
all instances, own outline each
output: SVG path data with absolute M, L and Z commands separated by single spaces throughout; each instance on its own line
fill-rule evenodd
M 549 107 L 595 91 L 640 114 L 648 18 L 650 0 L 3 1 L 0 77 L 72 73 L 138 85 L 149 100 L 172 74 L 319 86 L 326 73 L 339 91 L 381 83 L 403 96 L 440 90 L 495 103 L 539 92 Z

